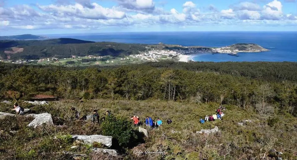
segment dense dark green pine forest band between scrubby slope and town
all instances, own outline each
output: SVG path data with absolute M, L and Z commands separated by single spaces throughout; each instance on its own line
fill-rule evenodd
M 2 99 L 49 94 L 65 99 L 216 102 L 297 116 L 293 62 L 163 62 L 105 68 L 0 65 Z

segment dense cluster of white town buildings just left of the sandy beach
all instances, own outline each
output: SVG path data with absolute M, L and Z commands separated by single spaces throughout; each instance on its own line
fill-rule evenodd
M 176 51 L 170 51 L 170 50 L 151 50 L 149 52 L 140 52 L 136 55 L 130 55 L 130 57 L 137 58 L 140 60 L 148 60 L 148 61 L 154 61 L 157 58 L 160 58 L 162 56 L 166 56 L 167 58 L 172 58 L 175 56 L 178 56 L 180 53 L 177 53 Z

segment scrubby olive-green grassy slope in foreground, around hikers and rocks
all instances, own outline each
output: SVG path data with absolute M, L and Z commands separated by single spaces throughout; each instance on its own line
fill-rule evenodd
M 25 108 L 32 107 L 22 104 Z M 293 125 L 297 124 L 297 119 L 289 115 L 278 116 L 280 121 L 274 126 L 267 125 L 267 117 L 260 116 L 254 111 L 242 111 L 236 106 L 226 106 L 225 116 L 222 121 L 207 122 L 199 124 L 200 116 L 213 114 L 218 104 L 195 104 L 164 102 L 158 100 L 146 101 L 123 101 L 123 100 L 89 100 L 78 103 L 72 100 L 58 101 L 50 103 L 50 106 L 35 106 L 32 109 L 37 112 L 49 112 L 53 116 L 58 116 L 67 120 L 71 113 L 67 111 L 71 106 L 75 106 L 81 116 L 90 114 L 93 109 L 99 109 L 99 113 L 104 114 L 110 110 L 113 114 L 127 117 L 136 113 L 143 121 L 145 116 L 153 119 L 160 117 L 163 126 L 159 130 L 152 130 L 149 138 L 145 139 L 145 144 L 140 144 L 133 149 L 128 149 L 118 159 L 259 159 L 269 149 L 276 149 L 283 152 L 283 158 L 296 159 L 297 131 Z M 11 106 L 1 104 L 1 112 L 11 112 Z M 166 118 L 171 118 L 173 123 L 166 125 Z M 100 134 L 100 126 L 85 122 L 66 121 L 66 127 L 47 127 L 31 129 L 25 127 L 32 118 L 11 118 L 1 121 L 0 128 L 4 130 L 0 137 L 0 149 L 7 152 L 0 152 L 0 159 L 61 159 L 62 154 L 52 154 L 62 150 L 69 150 L 72 142 L 54 140 L 55 135 L 64 134 Z M 255 120 L 246 126 L 239 126 L 242 120 Z M 221 130 L 218 134 L 203 136 L 192 134 L 200 129 L 211 129 L 218 126 Z M 146 127 L 144 127 L 146 128 Z M 15 135 L 9 133 L 11 130 L 19 130 Z M 137 130 L 137 128 L 135 128 Z M 181 131 L 181 133 L 171 133 Z M 61 146 L 61 148 L 59 147 Z M 165 150 L 164 155 L 144 154 L 137 156 L 133 154 L 134 149 L 146 149 L 155 151 Z M 31 150 L 31 151 L 30 151 Z M 34 150 L 34 151 L 32 151 Z M 88 150 L 82 150 L 87 152 Z M 28 154 L 28 152 L 30 154 Z M 46 152 L 46 154 L 41 154 Z M 261 153 L 261 154 L 260 154 Z M 98 155 L 97 155 L 98 156 Z M 102 156 L 102 155 L 101 155 Z M 192 158 L 191 158 L 192 157 Z M 92 158 L 90 155 L 89 158 Z M 104 157 L 93 157 L 93 159 L 104 159 Z M 105 157 L 108 159 L 107 157 Z M 109 157 L 110 158 L 110 157 Z M 116 159 L 115 158 L 115 159 Z

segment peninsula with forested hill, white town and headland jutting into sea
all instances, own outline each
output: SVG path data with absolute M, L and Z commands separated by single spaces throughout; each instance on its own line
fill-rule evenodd
M 220 48 L 158 43 L 125 44 L 93 42 L 70 38 L 49 40 L 1 40 L 0 61 L 8 63 L 59 65 L 110 65 L 145 61 L 185 61 L 205 53 L 265 52 L 258 44 L 239 43 Z

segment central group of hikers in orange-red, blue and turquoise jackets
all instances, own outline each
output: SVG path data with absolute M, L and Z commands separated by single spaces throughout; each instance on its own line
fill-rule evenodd
M 142 125 L 142 122 L 140 121 L 140 118 L 136 116 L 136 114 L 133 115 L 133 117 L 130 116 L 130 119 L 133 120 L 133 123 L 135 126 Z M 162 120 L 160 118 L 157 119 L 157 121 L 153 120 L 151 117 L 147 116 L 144 120 L 145 125 L 153 128 L 158 128 L 162 125 Z M 167 124 L 170 124 L 172 120 L 167 119 Z

